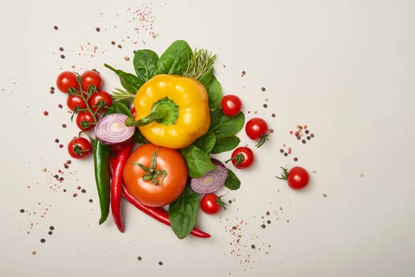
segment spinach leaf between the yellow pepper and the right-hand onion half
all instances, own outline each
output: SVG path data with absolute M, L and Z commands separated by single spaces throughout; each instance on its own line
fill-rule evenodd
M 200 178 L 216 168 L 210 161 L 209 155 L 194 145 L 187 146 L 187 148 L 181 149 L 180 152 L 185 158 L 190 177 Z

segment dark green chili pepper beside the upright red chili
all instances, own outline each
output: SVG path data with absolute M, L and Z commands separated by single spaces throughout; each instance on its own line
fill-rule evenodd
M 107 220 L 109 215 L 109 195 L 110 195 L 110 179 L 109 179 L 109 158 L 111 150 L 107 146 L 95 140 L 95 148 L 93 153 L 95 182 L 97 183 L 98 197 L 100 197 L 101 218 L 100 225 Z

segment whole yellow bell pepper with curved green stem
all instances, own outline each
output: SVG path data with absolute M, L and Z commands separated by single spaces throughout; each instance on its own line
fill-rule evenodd
M 165 148 L 185 148 L 208 132 L 210 110 L 203 84 L 179 75 L 156 75 L 138 90 L 134 98 L 136 126 L 145 138 Z

